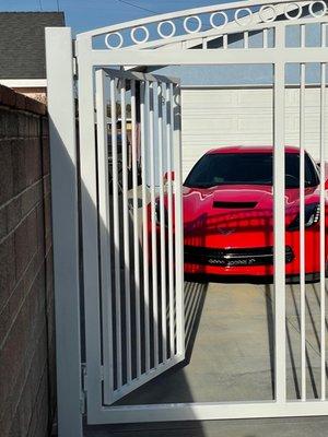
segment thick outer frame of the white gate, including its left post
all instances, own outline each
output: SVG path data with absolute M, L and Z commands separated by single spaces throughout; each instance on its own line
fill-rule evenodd
M 253 4 L 270 4 L 268 0 L 261 2 L 249 2 Z M 249 5 L 249 3 L 247 5 Z M 283 0 L 279 3 L 290 3 Z M 244 7 L 244 2 L 229 3 L 225 9 Z M 225 4 L 216 7 L 218 10 L 224 9 Z M 202 13 L 204 10 L 215 10 L 215 7 L 202 8 L 155 16 L 137 22 L 127 23 L 131 27 L 140 26 L 155 21 L 171 20 L 172 17 Z M 327 16 L 319 17 L 320 22 L 328 23 Z M 293 21 L 292 24 L 309 23 L 308 21 Z M 315 21 L 318 22 L 318 21 Z M 235 402 L 235 403 L 176 403 L 159 405 L 132 405 L 132 406 L 105 406 L 102 402 L 102 369 L 95 359 L 87 359 L 86 399 L 87 399 L 87 423 L 108 424 L 108 423 L 137 423 L 137 422 L 162 422 L 181 420 L 223 420 L 223 418 L 255 418 L 255 417 L 283 417 L 283 416 L 315 416 L 328 414 L 327 400 L 314 401 L 286 401 L 285 389 L 285 268 L 284 268 L 284 149 L 279 144 L 284 144 L 284 88 L 285 88 L 285 64 L 288 63 L 309 63 L 316 62 L 326 64 L 328 61 L 328 47 L 285 47 L 284 22 L 276 22 L 276 46 L 274 48 L 243 48 L 233 50 L 152 50 L 152 49 L 117 49 L 117 50 L 94 50 L 92 37 L 97 34 L 108 34 L 125 27 L 122 25 L 105 27 L 103 29 L 86 32 L 78 35 L 77 57 L 79 67 L 79 91 L 80 91 L 80 138 L 81 138 L 81 174 L 85 184 L 84 194 L 82 190 L 82 205 L 86 205 L 89 213 L 92 213 L 92 221 L 96 222 L 96 216 L 89 208 L 90 199 L 96 200 L 94 184 L 94 85 L 93 70 L 95 67 L 106 66 L 195 66 L 195 64 L 271 64 L 274 71 L 274 115 L 273 115 L 273 143 L 274 143 L 274 332 L 276 339 L 276 399 L 273 401 L 259 402 Z M 73 113 L 73 68 L 71 54 L 71 35 L 68 28 L 47 28 L 47 69 L 49 86 L 49 115 L 50 115 L 50 137 L 51 137 L 51 181 L 52 181 L 52 211 L 54 211 L 54 247 L 55 247 L 55 281 L 56 281 L 56 323 L 57 323 L 57 371 L 58 371 L 58 405 L 59 405 L 59 436 L 72 435 L 72 427 L 75 429 L 74 436 L 82 436 L 81 421 L 81 356 L 78 345 L 81 344 L 81 333 L 77 329 L 80 326 L 79 308 L 79 252 L 78 247 L 78 197 L 77 197 L 77 152 L 74 135 L 69 135 L 74 131 Z M 65 48 L 65 49 L 63 49 Z M 218 58 L 215 57 L 218 55 Z M 60 64 L 65 76 L 58 76 L 61 70 L 56 69 Z M 57 102 L 57 103 L 56 103 Z M 59 102 L 59 104 L 58 104 Z M 68 107 L 67 114 L 62 108 Z M 56 132 L 57 128 L 57 132 Z M 58 135 L 59 133 L 59 135 Z M 86 146 L 87 145 L 87 146 Z M 68 184 L 73 184 L 72 191 L 60 191 L 62 187 L 59 180 L 59 169 L 67 162 L 67 156 L 59 154 L 57 147 L 67 151 L 70 156 L 73 169 Z M 180 153 L 180 151 L 179 151 Z M 55 172 L 54 172 L 55 170 Z M 57 172 L 56 172 L 57 170 Z M 86 189 L 86 190 L 85 190 Z M 65 194 L 65 196 L 63 196 Z M 87 197 L 90 199 L 87 199 Z M 68 206 L 70 203 L 70 206 Z M 63 204 L 69 208 L 72 221 L 60 216 Z M 94 208 L 93 208 L 94 210 Z M 56 213 L 59 211 L 59 213 Z M 70 244 L 62 241 L 62 236 L 73 235 L 74 240 Z M 99 356 L 101 345 L 97 338 L 99 331 L 99 317 L 97 302 L 94 294 L 87 290 L 95 291 L 94 280 L 97 277 L 97 250 L 95 241 L 97 233 L 95 226 L 84 228 L 84 244 L 89 250 L 84 251 L 83 265 L 87 265 L 87 274 L 84 271 L 84 297 L 86 308 L 86 356 L 94 358 Z M 90 249 L 92 248 L 92 249 Z M 67 260 L 73 265 L 74 275 L 67 275 L 67 270 L 62 268 L 62 261 Z M 70 272 L 71 273 L 71 272 Z M 73 276 L 73 277 L 72 277 Z M 61 279 L 65 277 L 65 283 Z M 98 284 L 96 284 L 98 291 Z M 71 290 L 73 293 L 67 293 Z M 73 310 L 73 314 L 67 311 Z M 279 346 L 278 346 L 279 344 Z M 69 357 L 67 351 L 72 351 Z M 69 362 L 69 363 L 68 363 Z M 69 364 L 69 365 L 68 365 Z M 79 368 L 79 370 L 78 370 Z M 79 375 L 79 378 L 77 377 Z M 73 379 L 72 379 L 73 378 Z M 70 381 L 70 385 L 68 383 Z M 78 394 L 79 393 L 79 394 Z M 72 405 L 74 410 L 72 411 Z M 79 408 L 77 409 L 77 405 Z M 78 412 L 79 410 L 79 412 Z

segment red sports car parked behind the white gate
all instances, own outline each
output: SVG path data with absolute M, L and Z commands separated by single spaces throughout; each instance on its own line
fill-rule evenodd
M 272 165 L 271 146 L 221 147 L 198 161 L 183 188 L 185 273 L 273 275 Z M 319 188 L 319 168 L 306 153 L 305 273 L 315 277 L 320 271 Z M 326 237 L 326 247 L 327 243 Z M 290 146 L 285 271 L 300 274 L 300 150 Z

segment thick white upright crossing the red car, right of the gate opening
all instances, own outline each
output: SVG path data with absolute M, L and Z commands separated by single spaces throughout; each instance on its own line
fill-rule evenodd
M 276 400 L 285 402 L 285 156 L 284 156 L 284 63 L 274 64 L 273 192 L 274 192 L 274 333 Z

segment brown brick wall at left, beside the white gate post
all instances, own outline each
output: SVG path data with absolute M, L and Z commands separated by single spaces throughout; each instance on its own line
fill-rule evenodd
M 46 107 L 0 86 L 0 436 L 44 437 L 55 411 Z

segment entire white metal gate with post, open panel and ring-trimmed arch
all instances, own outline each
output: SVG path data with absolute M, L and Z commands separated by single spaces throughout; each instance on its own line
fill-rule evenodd
M 87 421 L 94 424 L 325 415 L 326 328 L 325 328 L 325 214 L 320 214 L 320 362 L 321 393 L 306 400 L 305 386 L 305 208 L 304 208 L 304 97 L 305 68 L 320 66 L 320 209 L 325 211 L 325 94 L 327 4 L 325 1 L 289 2 L 267 0 L 226 3 L 152 16 L 131 23 L 86 32 L 75 44 L 79 76 L 80 166 L 83 229 L 83 298 L 85 305 L 85 391 Z M 319 27 L 319 43 L 308 47 L 306 29 Z M 288 28 L 300 29 L 296 46 L 288 44 Z M 251 47 L 250 34 L 261 34 L 260 47 Z M 229 48 L 230 35 L 242 34 L 243 46 Z M 211 42 L 221 38 L 220 47 Z M 79 333 L 78 189 L 73 108 L 73 79 L 69 32 L 48 29 L 47 66 L 49 114 L 51 117 L 51 160 L 55 228 L 55 273 L 57 277 L 59 418 L 61 436 L 71 435 L 70 417 L 75 417 L 74 435 L 81 433 L 80 411 L 72 408 L 80 395 L 77 377 L 81 363 Z M 179 87 L 176 81 L 120 69 L 134 66 L 271 64 L 274 72 L 274 371 L 276 399 L 272 402 L 189 403 L 162 405 L 112 405 L 143 382 L 157 376 L 184 357 L 183 311 L 183 223 L 180 199 Z M 300 250 L 301 250 L 301 347 L 302 395 L 286 398 L 285 332 L 285 69 L 300 68 Z M 58 69 L 60 64 L 60 71 Z M 106 68 L 104 68 L 106 66 Z M 119 68 L 119 69 L 117 69 Z M 112 69 L 112 70 L 110 70 Z M 117 70 L 116 70 L 117 69 Z M 96 71 L 96 73 L 95 73 Z M 119 93 L 119 98 L 116 94 Z M 139 103 L 137 105 L 137 95 Z M 96 95 L 96 104 L 94 97 Z M 58 98 L 60 96 L 60 102 Z M 63 108 L 62 102 L 67 105 Z M 118 174 L 117 103 L 131 107 L 131 146 L 128 147 L 127 111 L 121 111 L 121 184 Z M 109 104 L 109 106 L 107 106 Z M 110 107 L 110 110 L 108 109 Z M 140 108 L 140 114 L 138 114 Z M 95 135 L 96 111 L 96 135 Z M 108 120 L 108 118 L 109 120 Z M 108 126 L 110 138 L 108 140 Z M 118 125 L 119 126 L 119 125 Z M 140 129 L 139 129 L 140 127 Z M 138 152 L 140 130 L 140 156 Z M 110 146 L 108 146 L 110 144 Z M 154 146 L 156 145 L 156 146 Z M 130 154 L 129 154 L 130 151 Z M 160 151 L 160 152 L 157 152 Z M 166 162 L 163 158 L 166 153 Z M 169 154 L 174 156 L 173 163 Z M 148 155 L 149 154 L 149 155 Z M 127 165 L 131 156 L 131 179 Z M 145 161 L 145 156 L 149 156 Z M 107 166 L 109 157 L 112 165 Z M 138 160 L 142 192 L 138 192 Z M 156 167 L 160 172 L 156 173 Z M 70 177 L 61 178 L 66 169 Z M 172 170 L 175 170 L 173 181 Z M 167 182 L 163 179 L 167 174 Z M 108 184 L 113 179 L 112 188 Z M 69 184 L 65 194 L 62 184 Z M 165 185 L 164 185 L 165 182 Z M 75 185 L 74 185 L 75 184 Z M 159 192 L 156 191 L 159 187 Z M 174 192 L 172 187 L 174 186 Z M 74 188 L 75 187 L 75 188 Z M 131 188 L 129 188 L 131 187 Z M 148 188 L 149 187 L 149 188 Z M 165 187 L 165 188 L 164 188 Z M 165 189 L 165 193 L 164 193 Z M 147 200 L 149 190 L 149 200 Z M 141 197 L 141 210 L 138 206 Z M 174 199 L 174 204 L 173 204 Z M 70 202 L 69 202 L 70 200 Z M 65 202 L 65 203 L 63 203 Z M 149 204 L 149 205 L 148 205 Z M 68 224 L 60 208 L 66 206 Z M 165 210 L 169 209 L 167 223 Z M 140 210 L 140 211 L 139 211 Z M 141 213 L 141 215 L 139 215 Z M 157 215 L 156 215 L 157 214 Z M 142 216 L 142 220 L 140 217 Z M 155 220 L 159 220 L 160 233 Z M 130 222 L 131 218 L 131 222 Z M 142 229 L 140 228 L 140 225 Z M 151 231 L 149 233 L 149 229 Z M 65 237 L 70 236 L 68 240 Z M 140 236 L 142 238 L 140 239 Z M 150 240 L 148 239 L 150 237 Z M 173 239 L 175 243 L 173 244 Z M 140 241 L 142 245 L 140 246 Z M 166 244 L 167 243 L 167 244 Z M 140 249 L 143 248 L 143 250 Z M 151 248 L 148 250 L 147 248 Z M 165 252 L 166 249 L 166 252 Z M 142 253 L 141 253 L 142 252 Z M 161 260 L 157 263 L 157 259 Z M 67 260 L 68 262 L 65 262 Z M 168 267 L 168 276 L 165 267 Z M 151 264 L 150 275 L 147 272 Z M 175 271 L 173 265 L 175 264 Z M 70 270 L 68 271 L 68 265 Z M 130 271 L 132 269 L 132 274 Z M 140 272 L 142 272 L 140 274 Z M 70 274 L 69 274 L 70 273 Z M 160 283 L 160 286 L 156 284 Z M 122 285 L 124 284 L 124 285 Z M 133 284 L 133 285 L 132 285 Z M 67 290 L 72 290 L 67 295 Z M 168 293 L 163 293 L 163 290 Z M 133 291 L 133 293 L 131 292 Z M 136 293 L 134 293 L 136 292 Z M 144 299 L 140 296 L 144 296 Z M 131 315 L 131 298 L 136 314 Z M 169 308 L 168 318 L 165 308 Z M 75 309 L 72 310 L 71 308 Z M 151 308 L 152 320 L 141 315 Z M 69 310 L 68 310 L 69 308 Z M 72 312 L 72 317 L 70 311 Z M 63 316 L 65 314 L 65 316 Z M 137 320 L 137 322 L 136 322 Z M 139 323 L 139 320 L 142 322 Z M 141 328 L 141 323 L 142 327 Z M 153 326 L 152 333 L 150 324 Z M 159 324 L 157 324 L 159 323 Z M 115 324 L 115 326 L 114 326 Z M 121 329 L 117 329 L 119 326 Z M 155 328 L 154 328 L 155 327 Z M 71 328 L 68 334 L 67 328 Z M 85 330 L 84 330 L 85 328 Z M 127 331 L 136 331 L 136 341 Z M 142 334 L 142 329 L 144 332 Z M 127 330 L 127 331 L 126 331 Z M 154 334 L 155 333 L 155 334 Z M 125 336 L 126 335 L 126 336 Z M 124 344 L 127 341 L 127 346 Z M 163 340 L 163 339 L 166 339 Z M 133 343 L 133 344 L 132 344 Z M 73 366 L 68 373 L 68 351 Z M 134 351 L 134 352 L 133 352 Z M 134 354 L 134 355 L 133 355 Z M 133 357 L 132 357 L 133 355 Z M 143 356 L 144 358 L 142 358 Z M 67 373 L 67 374 L 66 374 Z M 71 377 L 71 379 L 69 379 Z M 70 394 L 62 381 L 72 380 Z M 75 398 L 74 398 L 75 395 Z M 65 434 L 67 433 L 67 434 Z

